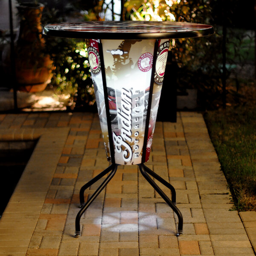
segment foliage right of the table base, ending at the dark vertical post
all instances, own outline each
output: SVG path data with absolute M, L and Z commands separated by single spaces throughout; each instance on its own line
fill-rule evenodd
M 135 20 L 173 20 L 209 24 L 213 22 L 214 0 L 127 0 L 126 17 Z M 153 15 L 157 13 L 157 15 Z M 172 61 L 177 65 L 177 87 L 180 91 L 197 88 L 200 105 L 212 108 L 221 97 L 221 43 L 217 32 L 204 38 L 173 40 Z

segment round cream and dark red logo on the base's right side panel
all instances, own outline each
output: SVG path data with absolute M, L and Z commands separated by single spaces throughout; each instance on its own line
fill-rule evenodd
M 156 63 L 156 71 L 154 75 L 154 81 L 157 84 L 163 83 L 163 75 L 165 72 L 169 46 L 170 46 L 169 41 L 166 41 L 160 45 L 157 51 L 157 63 Z

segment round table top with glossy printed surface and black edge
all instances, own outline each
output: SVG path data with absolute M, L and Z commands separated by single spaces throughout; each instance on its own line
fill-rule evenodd
M 214 33 L 210 25 L 173 21 L 87 21 L 44 27 L 45 35 L 86 39 L 171 39 Z

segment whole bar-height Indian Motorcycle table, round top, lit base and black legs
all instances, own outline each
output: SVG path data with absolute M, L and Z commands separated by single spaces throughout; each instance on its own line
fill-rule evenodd
M 170 21 L 92 21 L 44 27 L 45 35 L 86 39 L 103 142 L 111 162 L 80 189 L 75 237 L 81 236 L 82 214 L 115 175 L 118 165 L 133 164 L 177 214 L 177 236 L 183 234 L 175 188 L 144 163 L 151 150 L 170 39 L 212 33 L 209 25 Z M 108 173 L 84 203 L 85 189 Z M 172 200 L 150 176 L 171 190 Z

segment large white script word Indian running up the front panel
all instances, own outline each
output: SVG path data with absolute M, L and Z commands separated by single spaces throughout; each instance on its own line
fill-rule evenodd
M 122 158 L 128 162 L 132 158 L 132 149 L 128 143 L 131 143 L 131 91 L 124 88 L 121 90 L 121 109 L 117 110 L 117 116 L 121 122 L 121 134 L 116 135 L 113 132 L 113 142 L 116 152 L 122 152 Z

